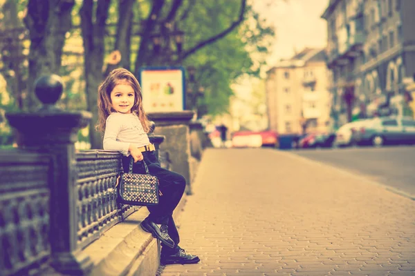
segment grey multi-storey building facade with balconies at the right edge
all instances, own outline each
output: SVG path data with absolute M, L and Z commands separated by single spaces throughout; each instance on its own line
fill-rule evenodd
M 415 1 L 330 0 L 327 67 L 335 126 L 405 115 L 405 79 L 415 73 Z

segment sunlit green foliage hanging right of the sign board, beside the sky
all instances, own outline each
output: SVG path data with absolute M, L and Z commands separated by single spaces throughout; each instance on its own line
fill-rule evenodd
M 237 20 L 240 1 L 185 1 L 184 7 L 193 3 L 189 16 L 180 23 L 185 30 L 185 48 L 192 48 L 200 41 L 218 34 Z M 242 75 L 259 76 L 265 65 L 273 28 L 266 26 L 248 5 L 246 21 L 223 39 L 191 55 L 184 66 L 196 68 L 196 81 L 205 88 L 201 106 L 207 106 L 210 115 L 228 111 L 233 95 L 231 85 Z

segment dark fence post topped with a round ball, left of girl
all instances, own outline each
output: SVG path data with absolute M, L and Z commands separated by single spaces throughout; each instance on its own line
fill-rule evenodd
M 91 113 L 65 111 L 55 106 L 62 95 L 62 79 L 57 75 L 40 77 L 35 94 L 43 106 L 36 112 L 6 114 L 10 126 L 26 150 L 50 156 L 49 240 L 51 265 L 59 273 L 84 275 L 92 262 L 77 248 L 77 173 L 75 142 L 77 132 L 88 126 Z

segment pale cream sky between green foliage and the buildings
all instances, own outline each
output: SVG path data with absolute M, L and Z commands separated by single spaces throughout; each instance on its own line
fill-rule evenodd
M 292 57 L 295 50 L 326 46 L 326 21 L 320 17 L 329 0 L 257 0 L 253 3 L 261 17 L 275 26 L 273 54 L 268 58 L 270 66 L 279 59 Z

